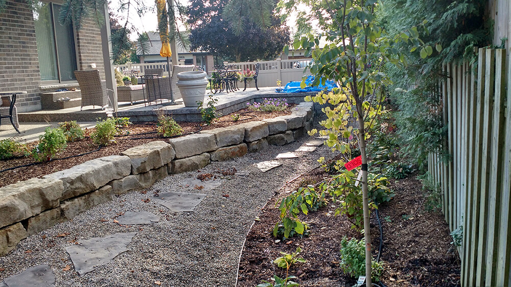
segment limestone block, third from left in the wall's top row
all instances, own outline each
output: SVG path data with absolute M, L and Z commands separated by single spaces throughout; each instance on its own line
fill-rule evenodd
M 131 174 L 138 174 L 170 163 L 176 152 L 172 145 L 164 141 L 154 141 L 129 148 L 121 155 L 126 155 L 131 159 Z

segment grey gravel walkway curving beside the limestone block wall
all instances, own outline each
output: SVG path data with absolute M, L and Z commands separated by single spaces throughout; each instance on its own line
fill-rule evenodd
M 267 151 L 214 162 L 200 172 L 168 176 L 147 193 L 138 191 L 115 197 L 73 220 L 34 234 L 7 256 L 0 257 L 0 270 L 5 269 L 0 272 L 0 282 L 30 267 L 50 264 L 57 286 L 156 286 L 156 281 L 162 286 L 234 286 L 242 244 L 260 208 L 286 181 L 317 166 L 318 157 L 330 152 L 325 146 L 314 152 L 297 152 L 298 159 L 280 159 L 283 165 L 266 173 L 254 163 L 273 160 L 277 153 L 294 150 L 309 139 L 305 136 L 285 146 L 270 145 Z M 249 175 L 223 176 L 219 172 L 233 167 L 239 172 L 248 171 Z M 203 173 L 223 177 L 222 185 L 213 190 L 197 190 L 180 183 Z M 155 192 L 168 191 L 207 196 L 195 212 L 174 213 L 152 200 Z M 147 201 L 148 198 L 151 200 Z M 113 222 L 127 211 L 151 212 L 160 217 L 160 222 L 131 226 Z M 69 234 L 57 237 L 63 232 Z M 137 232 L 128 251 L 95 271 L 76 275 L 64 247 L 117 232 Z M 71 269 L 64 271 L 67 265 Z

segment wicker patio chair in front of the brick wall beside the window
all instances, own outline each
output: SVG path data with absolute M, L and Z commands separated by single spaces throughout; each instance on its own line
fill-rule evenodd
M 92 109 L 100 106 L 103 109 L 108 105 L 106 81 L 101 81 L 98 70 L 75 71 L 75 76 L 82 94 L 80 111 L 85 106 L 92 106 Z

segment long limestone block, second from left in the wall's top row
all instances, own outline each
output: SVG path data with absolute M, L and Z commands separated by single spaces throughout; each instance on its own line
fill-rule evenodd
M 108 182 L 131 173 L 131 160 L 125 155 L 110 155 L 58 171 L 43 178 L 60 179 L 64 192 L 60 201 L 95 191 Z

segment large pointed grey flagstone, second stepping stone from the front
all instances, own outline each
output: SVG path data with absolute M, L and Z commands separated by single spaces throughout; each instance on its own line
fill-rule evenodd
M 97 266 L 107 264 L 115 256 L 126 252 L 135 232 L 115 233 L 81 241 L 79 245 L 65 247 L 78 275 L 94 271 Z

